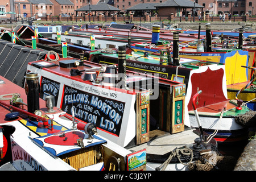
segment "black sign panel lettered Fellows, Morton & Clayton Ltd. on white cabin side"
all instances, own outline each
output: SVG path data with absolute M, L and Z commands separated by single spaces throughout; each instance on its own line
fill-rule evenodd
M 75 117 L 85 122 L 95 123 L 97 127 L 108 133 L 119 135 L 125 102 L 98 96 L 98 93 L 94 92 L 95 89 L 92 89 L 88 88 L 88 91 L 94 94 L 64 85 L 61 109 L 72 114 L 73 107 Z

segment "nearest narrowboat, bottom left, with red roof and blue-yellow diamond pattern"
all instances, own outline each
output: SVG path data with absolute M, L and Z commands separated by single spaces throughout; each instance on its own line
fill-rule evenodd
M 77 121 L 74 113 L 67 119 L 53 97 L 39 98 L 37 80 L 37 73 L 28 73 L 23 89 L 1 77 L 1 171 L 146 169 L 145 150 L 125 150 L 98 135 L 93 123 Z M 139 165 L 130 165 L 130 158 Z

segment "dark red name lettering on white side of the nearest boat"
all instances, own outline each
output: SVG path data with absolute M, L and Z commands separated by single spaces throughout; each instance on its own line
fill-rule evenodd
M 26 171 L 26 167 L 22 163 L 22 161 L 26 162 L 32 169 L 35 171 L 44 171 L 44 168 L 36 162 L 34 158 L 32 158 L 27 152 L 18 149 L 13 149 L 13 160 L 20 160 L 20 168 L 24 171 Z

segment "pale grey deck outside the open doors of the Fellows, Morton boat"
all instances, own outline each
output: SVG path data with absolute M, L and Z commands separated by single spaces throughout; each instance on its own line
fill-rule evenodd
M 138 151 L 146 148 L 147 154 L 164 155 L 173 151 L 176 147 L 184 147 L 187 144 L 194 143 L 199 135 L 192 129 L 180 133 L 170 134 L 160 130 L 150 131 L 150 141 L 139 146 L 129 148 L 130 151 Z

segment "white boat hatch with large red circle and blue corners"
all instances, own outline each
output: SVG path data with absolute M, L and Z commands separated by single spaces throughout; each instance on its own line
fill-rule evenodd
M 96 155 L 101 149 L 100 144 L 106 143 L 106 140 L 95 135 L 93 139 L 88 139 L 88 135 L 80 130 L 60 131 L 32 140 L 53 158 L 59 157 L 77 170 L 97 164 Z

